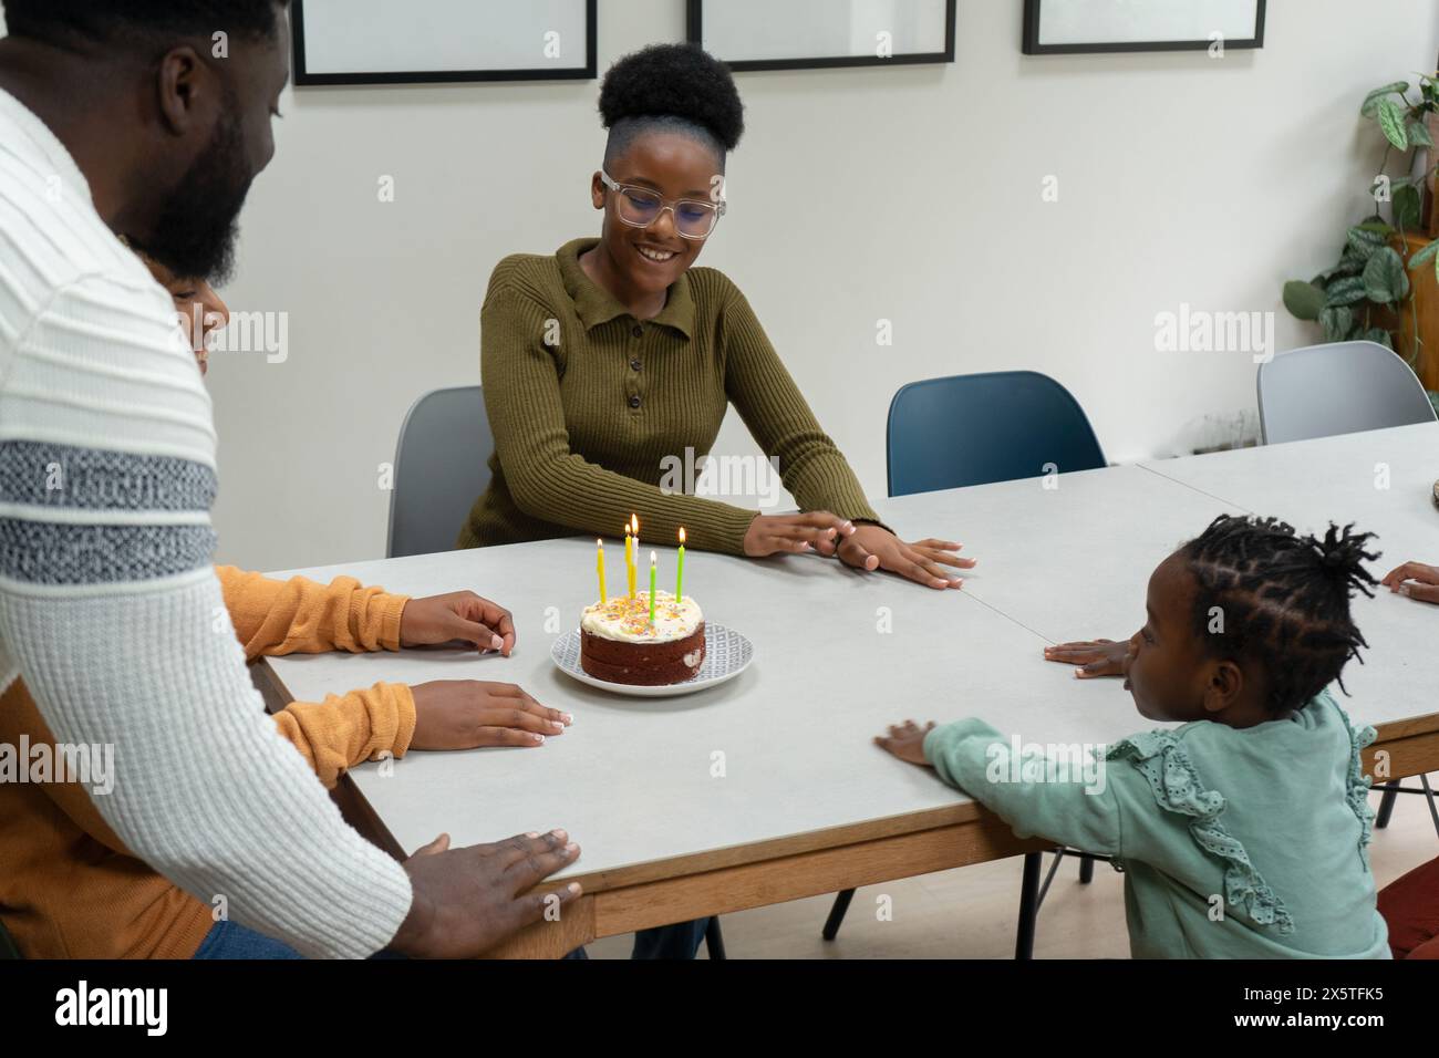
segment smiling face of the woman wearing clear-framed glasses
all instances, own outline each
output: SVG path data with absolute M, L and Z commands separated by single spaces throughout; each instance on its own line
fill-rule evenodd
M 711 202 L 722 163 L 712 148 L 694 137 L 655 131 L 637 135 L 606 171 L 616 183 L 648 187 L 669 203 L 679 199 Z M 649 227 L 635 227 L 617 214 L 617 199 L 623 193 L 607 189 L 599 173 L 590 193 L 594 207 L 604 210 L 600 249 L 627 297 L 662 297 L 699 258 L 705 240 L 682 238 L 671 210 L 663 210 Z

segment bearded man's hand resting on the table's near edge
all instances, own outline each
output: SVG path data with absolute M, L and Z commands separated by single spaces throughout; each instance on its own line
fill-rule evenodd
M 578 882 L 531 892 L 578 859 L 580 846 L 564 831 L 448 846 L 449 836 L 442 833 L 404 861 L 414 895 L 410 914 L 390 941 L 400 954 L 473 959 L 540 921 L 548 907 L 563 907 L 581 892 Z

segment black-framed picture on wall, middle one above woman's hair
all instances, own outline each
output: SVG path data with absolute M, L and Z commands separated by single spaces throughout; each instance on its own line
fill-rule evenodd
M 955 0 L 689 0 L 686 36 L 732 71 L 954 62 Z

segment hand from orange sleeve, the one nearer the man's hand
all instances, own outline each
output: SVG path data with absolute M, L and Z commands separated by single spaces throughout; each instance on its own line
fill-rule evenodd
M 410 688 L 413 750 L 475 750 L 482 746 L 543 746 L 564 734 L 574 717 L 545 708 L 514 684 L 436 679 Z

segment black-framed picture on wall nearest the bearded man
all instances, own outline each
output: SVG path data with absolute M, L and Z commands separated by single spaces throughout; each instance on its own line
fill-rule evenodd
M 294 0 L 295 85 L 593 81 L 596 0 Z

